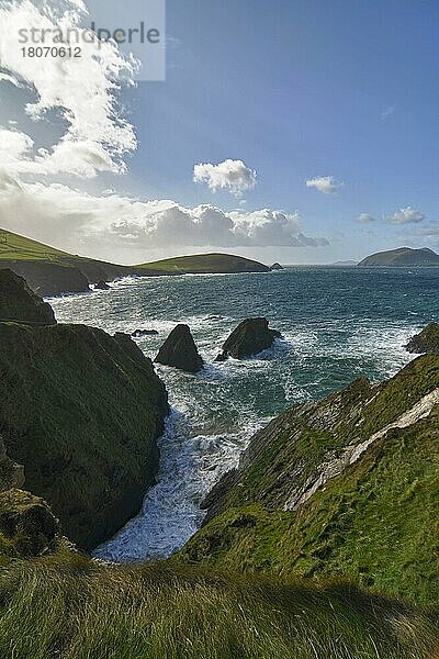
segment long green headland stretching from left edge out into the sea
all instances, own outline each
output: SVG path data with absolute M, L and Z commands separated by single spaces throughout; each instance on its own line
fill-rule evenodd
M 230 254 L 196 254 L 149 264 L 122 266 L 72 255 L 25 236 L 0 228 L 0 267 L 24 277 L 40 295 L 60 295 L 90 290 L 90 284 L 121 277 L 176 275 L 234 275 L 269 272 L 258 261 Z

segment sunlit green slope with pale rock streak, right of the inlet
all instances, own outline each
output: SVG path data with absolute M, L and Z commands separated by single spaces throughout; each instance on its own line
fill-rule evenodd
M 437 602 L 438 405 L 386 429 L 437 388 L 439 358 L 425 356 L 380 387 L 360 379 L 281 415 L 211 494 L 211 522 L 180 557 L 244 572 L 345 576 Z

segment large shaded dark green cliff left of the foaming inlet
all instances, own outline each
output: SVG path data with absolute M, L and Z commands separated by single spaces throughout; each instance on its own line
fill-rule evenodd
M 168 413 L 130 337 L 82 325 L 0 323 L 0 432 L 64 533 L 92 549 L 135 515 L 158 470 Z

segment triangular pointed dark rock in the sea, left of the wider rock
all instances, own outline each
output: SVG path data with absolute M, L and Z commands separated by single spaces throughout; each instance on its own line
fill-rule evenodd
M 203 368 L 195 342 L 188 325 L 177 325 L 161 346 L 156 362 L 198 373 Z

